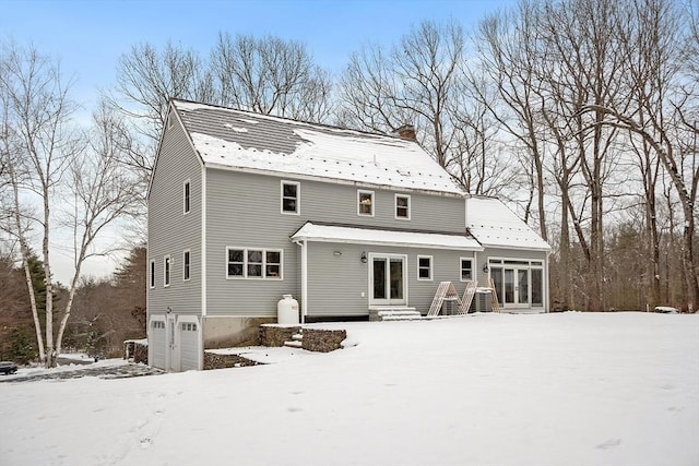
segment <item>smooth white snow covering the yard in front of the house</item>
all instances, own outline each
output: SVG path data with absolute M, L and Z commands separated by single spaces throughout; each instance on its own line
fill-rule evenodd
M 0 465 L 699 464 L 697 314 L 325 326 L 357 346 L 0 383 Z

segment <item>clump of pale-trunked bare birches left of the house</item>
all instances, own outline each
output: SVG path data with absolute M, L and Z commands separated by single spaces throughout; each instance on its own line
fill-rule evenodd
M 97 129 L 87 147 L 84 134 L 72 124 L 76 106 L 69 98 L 70 86 L 62 82 L 59 63 L 33 48 L 25 50 L 13 44 L 2 52 L 2 158 L 12 187 L 11 222 L 5 225 L 20 243 L 36 328 L 38 309 L 27 268 L 33 240 L 29 231 L 35 228 L 40 238 L 46 285 L 44 359 L 51 367 L 61 349 L 82 264 L 91 255 L 105 252 L 95 249 L 95 239 L 133 205 L 134 182 L 118 163 L 110 113 L 104 108 L 98 112 Z M 72 215 L 57 210 L 61 201 L 69 202 Z M 36 214 L 29 215 L 34 207 Z M 75 271 L 55 336 L 59 312 L 54 308 L 50 248 L 55 246 L 52 235 L 62 229 L 60 214 L 72 219 Z M 38 331 L 37 340 L 42 340 Z

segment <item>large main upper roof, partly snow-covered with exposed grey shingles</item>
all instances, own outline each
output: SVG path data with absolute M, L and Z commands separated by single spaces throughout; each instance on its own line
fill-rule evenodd
M 416 142 L 173 100 L 204 165 L 463 195 Z

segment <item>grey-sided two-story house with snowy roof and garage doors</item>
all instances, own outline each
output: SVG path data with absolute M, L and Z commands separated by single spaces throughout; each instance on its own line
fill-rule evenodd
M 415 141 L 173 100 L 149 189 L 149 361 L 200 369 L 254 343 L 293 295 L 304 322 L 426 313 L 438 284 L 548 307 L 549 247 L 471 198 Z

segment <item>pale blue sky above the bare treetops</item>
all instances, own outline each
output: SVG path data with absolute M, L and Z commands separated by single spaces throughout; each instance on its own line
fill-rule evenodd
M 122 53 L 139 43 L 157 47 L 168 40 L 208 53 L 220 32 L 274 35 L 300 40 L 317 62 L 335 74 L 362 44 L 387 46 L 424 20 L 450 19 L 466 32 L 485 15 L 516 0 L 435 1 L 224 1 L 224 0 L 3 0 L 0 40 L 33 44 L 39 52 L 60 58 L 62 71 L 75 81 L 73 97 L 86 111 L 100 88 L 115 81 Z M 56 249 L 55 249 L 56 250 Z M 66 283 L 70 260 L 56 258 L 56 276 Z M 86 274 L 111 272 L 111 261 L 95 261 Z

